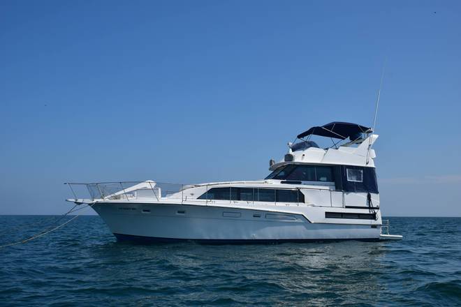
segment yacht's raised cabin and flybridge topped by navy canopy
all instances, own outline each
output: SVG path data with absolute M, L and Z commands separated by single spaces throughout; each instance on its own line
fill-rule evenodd
M 319 148 L 313 135 L 329 137 L 332 146 Z M 328 186 L 342 191 L 344 207 L 369 206 L 369 200 L 379 206 L 379 190 L 371 149 L 378 135 L 371 128 L 355 123 L 332 122 L 312 127 L 297 136 L 299 142 L 288 143 L 288 153 L 282 160 L 270 161 L 272 173 L 266 179 L 286 184 Z M 341 143 L 342 142 L 342 143 Z

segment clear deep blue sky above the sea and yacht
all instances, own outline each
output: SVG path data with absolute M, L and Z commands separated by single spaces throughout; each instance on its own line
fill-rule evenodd
M 310 126 L 376 127 L 383 213 L 461 216 L 460 1 L 1 1 L 0 214 L 65 181 L 261 179 Z

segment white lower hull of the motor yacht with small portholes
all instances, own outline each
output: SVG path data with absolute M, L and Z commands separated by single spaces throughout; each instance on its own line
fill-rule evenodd
M 119 240 L 205 243 L 379 240 L 381 225 L 311 223 L 302 214 L 186 204 L 95 204 Z

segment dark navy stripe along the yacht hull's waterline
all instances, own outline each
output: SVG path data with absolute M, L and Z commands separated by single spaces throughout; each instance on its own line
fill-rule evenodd
M 133 236 L 131 234 L 114 234 L 117 241 L 121 242 L 136 242 L 143 244 L 155 243 L 177 243 L 177 242 L 196 242 L 199 244 L 281 244 L 286 242 L 306 243 L 306 242 L 336 242 L 336 241 L 379 241 L 379 238 L 367 239 L 175 239 L 175 238 L 160 238 L 160 237 L 144 237 Z

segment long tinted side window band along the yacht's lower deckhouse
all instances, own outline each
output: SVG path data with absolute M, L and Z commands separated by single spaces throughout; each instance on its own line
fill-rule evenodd
M 199 200 L 242 200 L 247 202 L 305 202 L 300 190 L 272 188 L 210 188 Z

